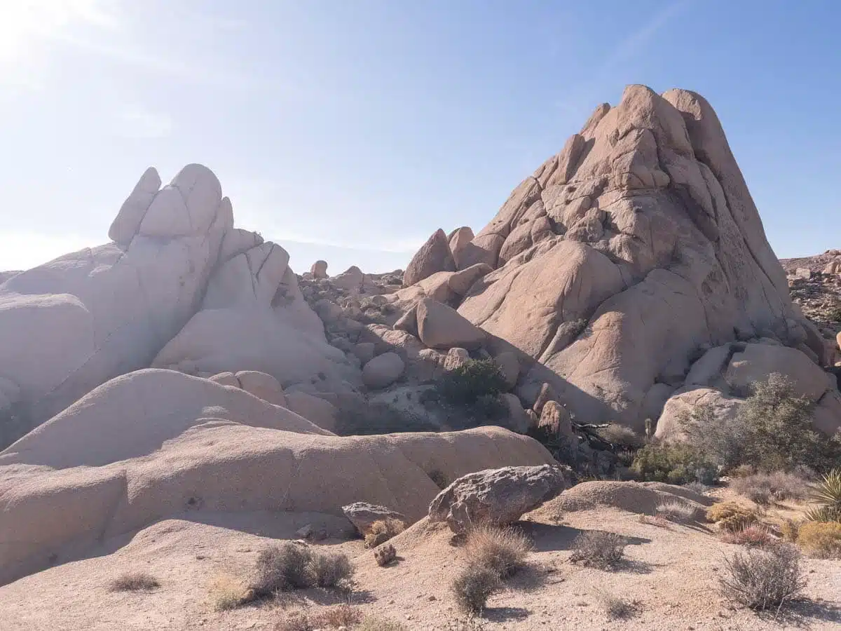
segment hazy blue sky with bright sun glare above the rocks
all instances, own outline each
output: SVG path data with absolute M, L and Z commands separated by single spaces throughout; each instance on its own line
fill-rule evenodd
M 301 273 L 483 227 L 595 106 L 703 94 L 780 257 L 841 247 L 836 0 L 0 0 L 0 269 L 201 162 Z

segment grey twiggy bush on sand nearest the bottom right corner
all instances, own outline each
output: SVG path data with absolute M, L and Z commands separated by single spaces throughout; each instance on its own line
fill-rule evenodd
M 790 544 L 748 550 L 725 559 L 722 595 L 751 609 L 778 609 L 798 597 L 806 581 L 801 557 Z

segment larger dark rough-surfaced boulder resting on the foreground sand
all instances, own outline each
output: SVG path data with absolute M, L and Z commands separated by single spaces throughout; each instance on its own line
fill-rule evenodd
M 472 525 L 507 526 L 569 487 L 569 469 L 553 464 L 485 469 L 464 475 L 429 505 L 431 522 L 447 522 L 453 533 Z

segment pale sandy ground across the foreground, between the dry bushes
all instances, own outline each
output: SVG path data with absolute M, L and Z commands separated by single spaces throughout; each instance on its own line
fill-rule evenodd
M 722 544 L 705 525 L 660 528 L 611 507 L 565 512 L 562 523 L 554 523 L 547 511 L 528 518 L 534 521 L 521 522 L 521 528 L 535 542 L 530 567 L 491 597 L 484 629 L 841 628 L 841 562 L 808 559 L 807 598 L 785 616 L 759 616 L 732 607 L 719 595 L 722 560 L 738 547 Z M 357 566 L 357 589 L 349 597 L 299 591 L 280 601 L 215 612 L 209 596 L 214 580 L 246 575 L 257 553 L 277 539 L 294 538 L 299 522 L 283 513 L 235 518 L 192 513 L 190 521 L 158 522 L 133 538 L 108 542 L 96 556 L 0 587 L 0 629 L 271 631 L 288 612 L 301 607 L 317 611 L 348 600 L 363 612 L 388 616 L 412 630 L 444 629 L 460 617 L 449 582 L 467 559 L 446 527 L 425 520 L 393 539 L 399 559 L 386 568 L 374 563 L 359 540 L 323 542 L 325 549 L 351 556 Z M 572 540 L 593 529 L 629 538 L 627 561 L 618 570 L 569 563 Z M 149 592 L 108 591 L 116 576 L 139 570 L 154 575 L 161 586 Z M 599 591 L 637 600 L 637 615 L 611 620 L 600 605 Z

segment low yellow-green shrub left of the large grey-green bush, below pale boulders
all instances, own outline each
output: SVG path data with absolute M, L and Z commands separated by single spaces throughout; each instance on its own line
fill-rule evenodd
M 649 443 L 637 451 L 631 470 L 640 480 L 674 485 L 690 482 L 711 485 L 717 480 L 716 467 L 710 460 L 685 443 Z

